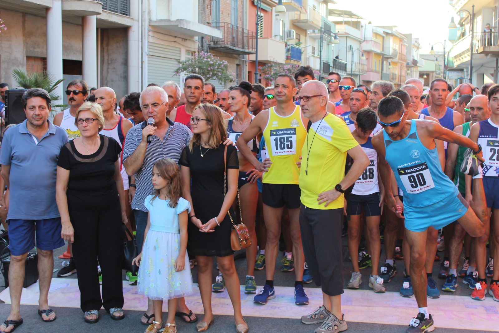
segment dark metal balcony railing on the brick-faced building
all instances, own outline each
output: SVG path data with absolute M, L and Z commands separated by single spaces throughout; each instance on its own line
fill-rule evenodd
M 222 30 L 222 38 L 210 37 L 208 45 L 223 52 L 231 54 L 254 54 L 255 38 L 254 31 L 233 25 L 229 22 L 212 22 L 211 27 Z

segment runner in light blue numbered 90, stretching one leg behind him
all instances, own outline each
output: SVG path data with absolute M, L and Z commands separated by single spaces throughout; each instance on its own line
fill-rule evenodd
M 408 112 L 402 100 L 396 96 L 388 96 L 379 101 L 378 116 L 383 130 L 374 135 L 372 144 L 378 153 L 388 209 L 399 218 L 402 218 L 402 212 L 405 215 L 405 237 L 411 253 L 412 286 L 418 303 L 418 314 L 411 320 L 406 332 L 430 331 L 434 329 L 434 322 L 426 298 L 428 228 L 433 226 L 439 229 L 458 220 L 471 236 L 479 237 L 485 232 L 485 224 L 473 209 L 468 209 L 468 202 L 442 171 L 435 139 L 466 146 L 483 161 L 482 147 L 435 121 L 408 121 Z M 403 207 L 395 201 L 390 168 L 404 193 Z

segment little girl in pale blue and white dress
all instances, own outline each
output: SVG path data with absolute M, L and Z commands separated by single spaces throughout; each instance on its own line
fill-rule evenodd
M 147 196 L 149 210 L 140 262 L 137 291 L 153 301 L 155 321 L 145 333 L 176 333 L 177 298 L 192 292 L 192 275 L 187 256 L 187 214 L 189 201 L 181 197 L 182 177 L 172 159 L 160 159 L 153 167 L 156 192 Z M 168 318 L 163 322 L 163 300 L 168 300 Z

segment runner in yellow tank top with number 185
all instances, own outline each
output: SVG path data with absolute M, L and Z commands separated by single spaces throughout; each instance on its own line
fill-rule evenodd
M 293 242 L 295 304 L 308 304 L 303 290 L 304 257 L 299 225 L 300 187 L 299 169 L 296 162 L 301 156 L 305 141 L 305 124 L 308 119 L 301 114 L 300 107 L 293 103 L 296 81 L 289 74 L 279 74 L 275 79 L 274 94 L 277 105 L 258 113 L 238 139 L 240 152 L 263 174 L 262 201 L 263 217 L 267 228 L 265 246 L 266 281 L 258 289 L 253 301 L 266 304 L 275 298 L 273 279 L 275 261 L 279 251 L 280 223 L 284 206 L 289 213 L 289 227 Z M 262 162 L 251 153 L 248 142 L 260 131 L 263 132 L 269 156 L 262 156 Z

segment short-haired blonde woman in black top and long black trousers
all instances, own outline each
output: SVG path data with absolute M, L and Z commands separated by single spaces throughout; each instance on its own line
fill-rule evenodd
M 124 318 L 122 223 L 127 222 L 118 159 L 121 147 L 115 139 L 99 134 L 104 127 L 99 104 L 83 103 L 75 123 L 81 136 L 62 147 L 57 162 L 61 234 L 73 243 L 85 321 L 97 322 L 101 306 L 120 320 Z M 97 264 L 102 271 L 102 299 Z

